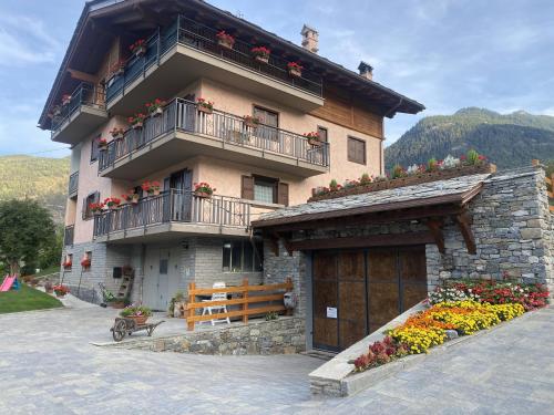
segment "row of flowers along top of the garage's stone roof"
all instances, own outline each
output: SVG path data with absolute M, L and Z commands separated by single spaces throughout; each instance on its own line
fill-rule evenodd
M 343 185 L 317 187 L 311 189 L 312 196 L 308 201 L 335 199 L 337 197 L 494 172 L 496 172 L 496 166 L 486 163 L 486 157 L 479 155 L 476 152 L 469 152 L 466 156 L 460 158 L 452 156 L 448 156 L 444 160 L 431 158 L 427 165 L 413 165 L 407 169 L 394 166 L 387 176 L 373 177 L 365 174 L 357 180 L 346 180 Z

